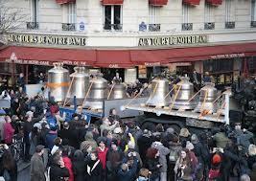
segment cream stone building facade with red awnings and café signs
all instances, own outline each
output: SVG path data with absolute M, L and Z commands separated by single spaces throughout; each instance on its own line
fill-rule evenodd
M 223 83 L 255 74 L 255 0 L 12 0 L 5 6 L 24 16 L 4 34 L 5 64 L 124 68 L 126 81 L 151 77 L 147 70 L 161 66 L 207 71 Z

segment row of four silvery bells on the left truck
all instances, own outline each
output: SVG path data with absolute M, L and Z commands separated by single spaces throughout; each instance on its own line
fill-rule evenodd
M 85 107 L 102 109 L 104 101 L 127 98 L 126 86 L 123 83 L 107 85 L 107 80 L 98 76 L 89 78 L 88 70 L 84 67 L 75 67 L 74 73 L 62 67 L 61 63 L 55 63 L 54 68 L 48 71 L 48 87 L 50 94 L 56 102 L 64 102 L 69 99 L 73 102 L 74 96 L 78 104 L 82 104 L 84 98 Z M 110 95 L 109 91 L 111 90 Z

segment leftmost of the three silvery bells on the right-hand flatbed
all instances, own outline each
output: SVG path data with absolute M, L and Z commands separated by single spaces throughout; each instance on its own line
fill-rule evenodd
M 151 82 L 151 96 L 146 102 L 149 106 L 167 106 L 171 103 L 171 96 L 169 93 L 169 81 L 168 79 L 155 78 Z

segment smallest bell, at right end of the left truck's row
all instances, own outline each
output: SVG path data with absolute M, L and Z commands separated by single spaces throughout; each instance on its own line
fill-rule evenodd
M 118 99 L 128 98 L 127 88 L 124 83 L 115 83 L 115 84 L 110 85 L 109 91 L 111 91 L 109 100 L 118 100 Z

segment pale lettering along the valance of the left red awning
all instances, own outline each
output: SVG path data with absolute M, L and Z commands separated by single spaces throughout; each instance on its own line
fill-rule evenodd
M 53 65 L 53 61 L 41 61 L 41 60 L 27 60 L 27 59 L 6 59 L 8 63 L 17 63 L 17 64 L 32 64 L 32 65 L 46 65 L 51 66 Z M 86 62 L 84 61 L 61 61 L 66 65 L 74 65 L 74 66 L 87 66 Z

